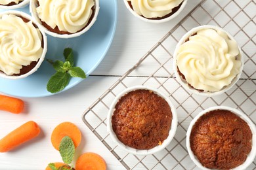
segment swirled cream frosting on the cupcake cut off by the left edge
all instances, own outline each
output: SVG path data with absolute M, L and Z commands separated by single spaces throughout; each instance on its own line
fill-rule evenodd
M 0 71 L 6 75 L 19 74 L 22 65 L 30 65 L 41 58 L 42 36 L 30 22 L 13 14 L 0 19 Z

